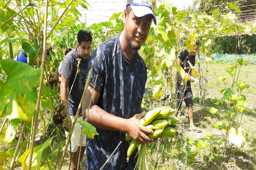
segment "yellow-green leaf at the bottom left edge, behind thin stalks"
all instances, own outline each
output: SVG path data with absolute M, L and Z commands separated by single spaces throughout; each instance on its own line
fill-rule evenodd
M 32 156 L 32 163 L 31 163 L 31 170 L 35 170 L 39 168 L 42 164 L 41 162 L 41 157 L 42 153 L 45 148 L 50 146 L 52 139 L 55 136 L 52 136 L 50 139 L 46 140 L 43 144 L 36 146 L 33 151 L 33 156 Z M 28 169 L 28 162 L 29 162 L 29 157 L 30 157 L 30 149 L 26 150 L 23 155 L 18 159 L 18 161 L 21 163 L 22 168 L 24 170 Z

